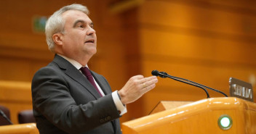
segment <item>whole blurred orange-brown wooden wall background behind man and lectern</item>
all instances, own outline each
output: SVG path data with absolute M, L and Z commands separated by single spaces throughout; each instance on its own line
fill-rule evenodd
M 31 80 L 53 59 L 47 17 L 68 4 L 84 4 L 97 31 L 89 67 L 113 91 L 133 75 L 159 70 L 229 95 L 230 77 L 256 82 L 256 1 L 253 0 L 8 0 L 0 1 L 0 104 L 32 109 Z M 211 97 L 222 94 L 209 91 Z M 254 93 L 255 95 L 255 93 Z M 159 78 L 156 88 L 128 104 L 121 122 L 148 115 L 159 101 L 206 99 L 200 88 Z

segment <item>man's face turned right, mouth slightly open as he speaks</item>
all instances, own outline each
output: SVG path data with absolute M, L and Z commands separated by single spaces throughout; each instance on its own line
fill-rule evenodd
M 92 20 L 87 14 L 76 10 L 68 10 L 63 13 L 65 20 L 63 33 L 63 53 L 72 59 L 88 56 L 96 53 L 97 37 L 93 29 Z

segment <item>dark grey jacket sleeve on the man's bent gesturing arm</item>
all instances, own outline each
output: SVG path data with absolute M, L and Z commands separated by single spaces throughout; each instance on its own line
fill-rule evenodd
M 60 71 L 44 67 L 32 80 L 35 116 L 45 117 L 66 133 L 82 133 L 119 117 L 111 94 L 76 104 Z

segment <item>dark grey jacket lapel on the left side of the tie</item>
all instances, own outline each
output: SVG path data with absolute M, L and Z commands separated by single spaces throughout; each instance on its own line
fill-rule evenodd
M 95 99 L 100 98 L 99 93 L 97 93 L 92 84 L 89 83 L 89 80 L 87 80 L 87 78 L 85 78 L 84 75 L 82 75 L 82 73 L 73 66 L 73 64 L 65 60 L 63 57 L 58 56 L 57 54 L 55 55 L 55 59 L 53 60 L 53 62 L 57 63 L 62 70 L 65 70 L 64 72 L 66 75 L 83 85 L 84 88 L 89 91 L 89 93 L 92 93 L 92 95 L 95 96 Z

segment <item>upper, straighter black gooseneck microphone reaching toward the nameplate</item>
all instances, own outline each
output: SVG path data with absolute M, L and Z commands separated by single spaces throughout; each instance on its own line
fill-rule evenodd
M 175 77 L 175 76 L 172 76 L 172 75 L 168 75 L 167 72 L 159 72 L 158 70 L 153 70 L 151 72 L 152 75 L 155 75 L 155 76 L 159 76 L 161 78 L 175 78 L 175 79 L 180 79 L 180 80 L 185 80 L 185 81 L 188 81 L 189 83 L 193 83 L 193 84 L 196 84 L 196 85 L 200 85 L 201 87 L 204 87 L 204 88 L 208 88 L 212 91 L 217 91 L 218 93 L 222 93 L 224 96 L 228 97 L 225 93 L 223 93 L 222 91 L 218 91 L 217 89 L 214 89 L 214 88 L 209 88 L 208 86 L 206 85 L 201 85 L 199 83 L 196 83 L 196 82 L 193 82 L 191 80 L 187 80 L 187 79 L 184 79 L 184 78 L 178 78 L 178 77 Z M 175 80 L 173 79 L 173 80 Z

